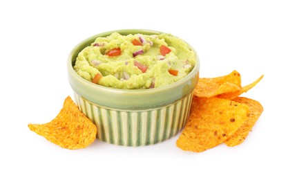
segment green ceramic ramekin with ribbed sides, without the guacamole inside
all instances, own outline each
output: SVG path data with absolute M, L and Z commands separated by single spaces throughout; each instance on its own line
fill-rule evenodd
M 193 89 L 199 79 L 198 55 L 189 75 L 155 89 L 113 89 L 88 82 L 77 75 L 73 66 L 78 53 L 97 37 L 106 37 L 114 32 L 122 35 L 161 33 L 154 30 L 113 30 L 77 44 L 67 62 L 68 80 L 74 91 L 75 103 L 97 126 L 97 138 L 107 143 L 152 145 L 175 136 L 189 116 Z

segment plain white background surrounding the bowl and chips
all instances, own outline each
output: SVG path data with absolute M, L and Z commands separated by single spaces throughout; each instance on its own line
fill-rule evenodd
M 1 1 L 0 179 L 297 179 L 294 1 Z M 202 153 L 175 146 L 178 136 L 146 147 L 96 140 L 66 150 L 31 132 L 59 113 L 66 60 L 83 39 L 109 30 L 172 33 L 200 57 L 200 77 L 231 73 L 243 96 L 265 110 L 247 140 Z M 295 171 L 295 172 L 294 172 Z

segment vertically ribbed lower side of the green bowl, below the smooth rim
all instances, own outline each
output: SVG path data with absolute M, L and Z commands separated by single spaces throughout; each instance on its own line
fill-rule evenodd
M 193 93 L 172 105 L 127 111 L 99 107 L 75 93 L 75 103 L 97 126 L 97 138 L 125 146 L 152 145 L 180 132 L 189 116 Z

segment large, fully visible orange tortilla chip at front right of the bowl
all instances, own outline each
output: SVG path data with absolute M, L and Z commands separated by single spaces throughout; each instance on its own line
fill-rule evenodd
M 227 141 L 245 123 L 247 105 L 220 98 L 193 98 L 191 114 L 176 145 L 203 152 Z

